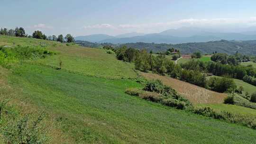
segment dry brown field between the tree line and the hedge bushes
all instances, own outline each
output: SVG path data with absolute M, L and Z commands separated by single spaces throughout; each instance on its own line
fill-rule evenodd
M 227 97 L 224 93 L 219 93 L 211 90 L 204 89 L 202 87 L 176 80 L 168 76 L 160 76 L 153 73 L 141 72 L 147 80 L 161 80 L 167 86 L 170 86 L 177 90 L 178 93 L 183 95 L 186 99 L 189 99 L 192 103 L 223 103 L 224 98 Z

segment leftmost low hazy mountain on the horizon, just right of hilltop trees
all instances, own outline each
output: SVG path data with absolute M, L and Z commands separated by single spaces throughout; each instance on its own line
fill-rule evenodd
M 104 34 L 89 35 L 89 36 L 77 36 L 74 39 L 76 41 L 88 41 L 88 42 L 99 42 L 104 39 L 115 38 L 115 36 L 109 36 Z

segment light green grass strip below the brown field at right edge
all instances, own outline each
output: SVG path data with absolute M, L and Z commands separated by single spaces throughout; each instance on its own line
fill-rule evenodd
M 210 107 L 218 111 L 229 111 L 233 114 L 247 115 L 250 117 L 256 117 L 256 110 L 252 108 L 245 108 L 237 105 L 228 104 L 197 104 L 197 107 Z

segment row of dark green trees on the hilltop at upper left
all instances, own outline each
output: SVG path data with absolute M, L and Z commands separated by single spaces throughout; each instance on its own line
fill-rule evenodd
M 58 42 L 67 42 L 67 43 L 73 43 L 74 38 L 71 34 L 67 34 L 65 37 L 63 35 L 58 36 L 46 36 L 43 34 L 42 31 L 36 30 L 33 32 L 32 36 L 28 36 L 25 32 L 25 29 L 23 27 L 16 27 L 15 29 L 7 29 L 7 28 L 1 28 L 0 29 L 0 35 L 4 36 L 17 36 L 17 37 L 29 37 L 29 38 L 37 38 L 37 39 L 45 39 L 45 40 L 52 40 L 52 41 L 58 41 Z

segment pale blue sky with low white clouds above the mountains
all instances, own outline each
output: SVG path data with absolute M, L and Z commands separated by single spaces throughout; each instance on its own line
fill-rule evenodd
M 256 27 L 256 0 L 0 0 L 0 27 L 46 35 L 159 33 Z

